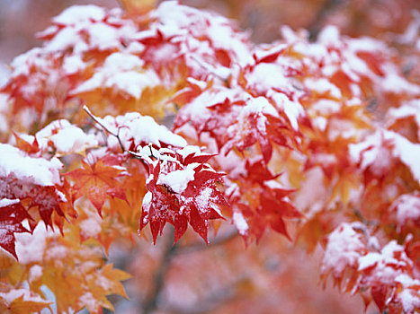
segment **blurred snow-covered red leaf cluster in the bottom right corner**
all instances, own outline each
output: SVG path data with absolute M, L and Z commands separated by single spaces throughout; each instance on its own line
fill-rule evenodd
M 381 312 L 415 313 L 420 301 L 418 280 L 406 249 L 396 240 L 380 249 L 378 240 L 362 223 L 344 222 L 328 236 L 323 280 L 332 274 L 335 284 L 345 292 L 368 291 L 363 297 L 366 306 L 374 301 Z

